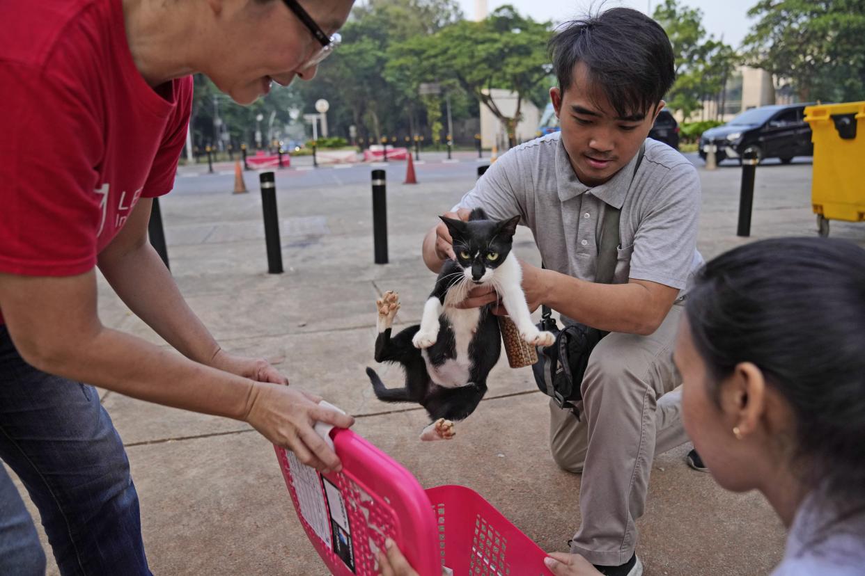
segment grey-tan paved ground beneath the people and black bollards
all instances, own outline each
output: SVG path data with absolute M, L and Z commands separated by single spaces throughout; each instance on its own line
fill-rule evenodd
M 368 183 L 301 191 L 279 174 L 285 274 L 266 273 L 259 194 L 222 192 L 227 186 L 178 190 L 162 200 L 172 273 L 223 347 L 269 358 L 293 384 L 356 415 L 356 431 L 424 486 L 468 485 L 542 548 L 564 550 L 580 524 L 580 477 L 561 472 L 548 453 L 547 402 L 529 369 L 511 370 L 503 359 L 490 376 L 489 395 L 458 425 L 457 438 L 432 444 L 417 440 L 425 413 L 378 402 L 363 373 L 375 365 L 376 296 L 399 291 L 398 323 L 420 320 L 434 279 L 420 262 L 421 238 L 472 185 L 465 177 L 424 184 L 425 168 L 418 167 L 420 185 L 388 186 L 386 266 L 373 264 Z M 735 236 L 740 169 L 700 173 L 699 248 L 708 258 L 748 239 Z M 809 164 L 759 167 L 751 239 L 815 234 L 810 182 Z M 832 235 L 865 245 L 865 225 L 833 222 Z M 515 250 L 538 261 L 524 229 Z M 106 282 L 99 291 L 107 326 L 163 345 Z M 391 385 L 400 380 L 393 368 L 380 373 Z M 131 459 L 153 573 L 326 573 L 300 528 L 272 447 L 246 424 L 112 393 L 103 402 Z M 638 522 L 645 573 L 769 573 L 783 552 L 779 520 L 759 495 L 723 491 L 707 474 L 691 471 L 683 461 L 687 449 L 655 461 Z

